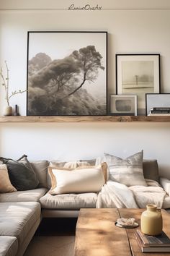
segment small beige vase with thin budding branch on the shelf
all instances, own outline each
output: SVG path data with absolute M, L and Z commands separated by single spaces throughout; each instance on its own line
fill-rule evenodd
M 5 61 L 6 66 L 6 77 L 4 77 L 2 68 L 0 69 L 0 77 L 1 77 L 1 85 L 4 87 L 5 90 L 5 99 L 7 106 L 4 108 L 4 116 L 12 116 L 12 106 L 9 104 L 10 98 L 12 98 L 14 95 L 24 93 L 27 90 L 14 90 L 12 93 L 9 93 L 9 68 L 7 65 L 7 62 Z

